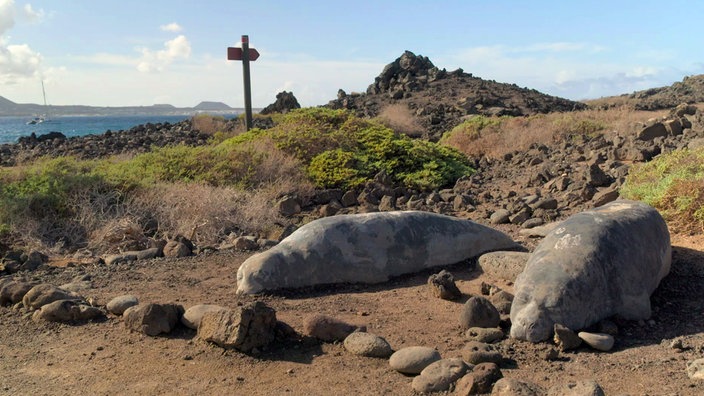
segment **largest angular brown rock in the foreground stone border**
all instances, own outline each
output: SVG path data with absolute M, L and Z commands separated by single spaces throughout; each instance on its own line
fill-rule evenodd
M 234 310 L 206 312 L 198 326 L 198 338 L 250 353 L 271 343 L 276 327 L 276 312 L 257 301 Z

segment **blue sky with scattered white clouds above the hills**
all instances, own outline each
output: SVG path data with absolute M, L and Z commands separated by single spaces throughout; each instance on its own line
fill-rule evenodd
M 700 1 L 0 0 L 0 96 L 52 105 L 304 107 L 364 92 L 405 50 L 573 100 L 704 73 Z

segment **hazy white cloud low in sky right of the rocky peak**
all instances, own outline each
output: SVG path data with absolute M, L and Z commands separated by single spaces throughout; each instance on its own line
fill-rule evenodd
M 570 99 L 590 99 L 669 85 L 677 73 L 628 54 L 618 61 L 596 53 L 610 51 L 590 43 L 538 43 L 524 47 L 467 48 L 438 58 L 438 67 L 462 67 L 477 77 L 534 88 Z M 636 60 L 637 58 L 637 60 Z M 638 62 L 635 64 L 634 62 Z M 676 79 L 676 78 L 675 78 Z

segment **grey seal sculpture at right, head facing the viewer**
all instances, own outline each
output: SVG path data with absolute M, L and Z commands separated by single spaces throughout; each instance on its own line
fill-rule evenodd
M 511 337 L 548 339 L 555 323 L 583 329 L 610 316 L 650 317 L 650 295 L 670 271 L 660 213 L 618 200 L 575 214 L 535 248 L 516 278 Z

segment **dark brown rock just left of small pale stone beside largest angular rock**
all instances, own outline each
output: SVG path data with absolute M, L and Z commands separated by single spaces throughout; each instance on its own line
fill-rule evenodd
M 148 336 L 170 333 L 181 315 L 183 307 L 177 304 L 139 304 L 123 313 L 125 327 Z

